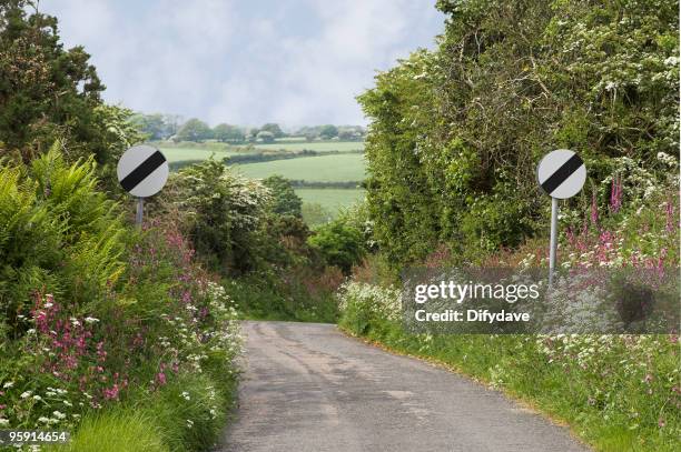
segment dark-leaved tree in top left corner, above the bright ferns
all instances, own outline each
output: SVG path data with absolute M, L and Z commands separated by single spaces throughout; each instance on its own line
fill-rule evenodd
M 0 3 L 0 142 L 28 161 L 62 137 L 70 160 L 93 153 L 103 163 L 108 150 L 90 141 L 105 87 L 82 47 L 63 49 L 57 19 L 31 8 Z

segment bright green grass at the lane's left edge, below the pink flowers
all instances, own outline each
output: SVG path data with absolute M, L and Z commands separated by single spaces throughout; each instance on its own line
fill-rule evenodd
M 88 412 L 71 441 L 50 452 L 207 451 L 219 440 L 234 402 L 235 375 L 186 373 L 151 393 Z

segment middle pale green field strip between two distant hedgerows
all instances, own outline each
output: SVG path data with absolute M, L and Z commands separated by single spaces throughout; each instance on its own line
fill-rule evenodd
M 237 171 L 249 178 L 267 178 L 280 174 L 290 180 L 309 182 L 362 181 L 366 177 L 364 154 L 334 154 L 274 160 L 236 165 Z

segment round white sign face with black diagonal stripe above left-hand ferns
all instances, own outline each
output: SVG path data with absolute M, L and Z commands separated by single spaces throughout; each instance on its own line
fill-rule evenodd
M 124 190 L 137 198 L 151 197 L 168 180 L 168 160 L 156 148 L 134 145 L 118 161 L 116 173 Z

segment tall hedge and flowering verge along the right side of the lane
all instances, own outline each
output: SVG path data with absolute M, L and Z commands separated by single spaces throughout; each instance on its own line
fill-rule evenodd
M 438 47 L 359 97 L 367 201 L 352 220 L 371 253 L 338 292 L 339 325 L 522 399 L 596 450 L 679 450 L 678 334 L 404 329 L 407 265 L 547 265 L 534 170 L 553 149 L 589 171 L 561 203 L 564 269 L 679 273 L 678 2 L 481 4 L 438 1 L 450 16 Z

